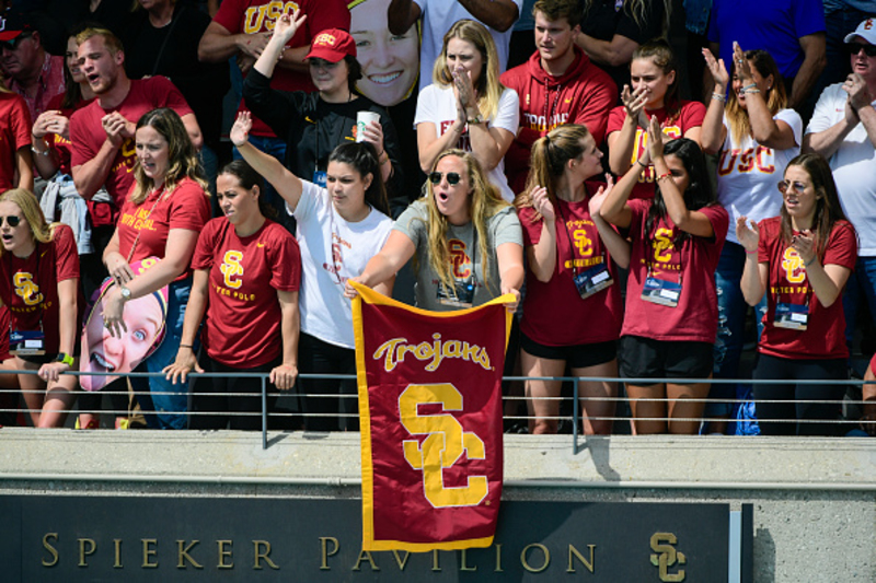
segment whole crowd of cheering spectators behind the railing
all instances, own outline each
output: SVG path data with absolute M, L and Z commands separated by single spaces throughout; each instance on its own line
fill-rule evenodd
M 834 381 L 876 328 L 868 10 L 0 0 L 0 366 L 37 371 L 0 375 L 0 423 L 21 389 L 33 425 L 78 399 L 100 427 L 129 386 L 117 427 L 258 427 L 261 382 L 189 390 L 207 371 L 356 430 L 354 383 L 298 377 L 355 372 L 355 281 L 510 294 L 506 373 L 634 380 L 581 384 L 587 433 L 622 390 L 637 434 L 845 433 Z M 754 377 L 784 383 L 708 383 L 739 378 L 752 314 Z M 556 432 L 561 383 L 522 393 Z M 856 400 L 876 433 L 876 388 Z

